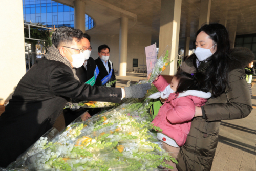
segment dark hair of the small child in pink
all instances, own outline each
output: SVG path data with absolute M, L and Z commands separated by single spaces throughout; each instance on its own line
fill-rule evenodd
M 178 81 L 176 93 L 181 93 L 186 90 L 199 90 L 207 93 L 206 88 L 199 86 L 201 78 L 203 78 L 202 73 L 188 74 L 186 72 L 178 72 L 173 78 Z

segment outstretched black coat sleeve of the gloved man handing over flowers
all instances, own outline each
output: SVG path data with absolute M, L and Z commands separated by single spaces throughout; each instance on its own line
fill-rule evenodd
M 56 96 L 74 98 L 80 101 L 120 103 L 122 98 L 121 89 L 90 86 L 81 83 L 74 78 L 72 70 L 68 66 L 63 65 L 58 65 L 50 73 L 49 87 Z

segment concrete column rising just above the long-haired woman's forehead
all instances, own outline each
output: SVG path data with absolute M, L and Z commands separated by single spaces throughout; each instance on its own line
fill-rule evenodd
M 210 6 L 211 0 L 201 0 L 198 29 L 200 29 L 203 24 L 210 22 Z

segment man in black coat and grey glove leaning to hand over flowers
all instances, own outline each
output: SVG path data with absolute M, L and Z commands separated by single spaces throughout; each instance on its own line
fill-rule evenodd
M 0 167 L 6 167 L 53 126 L 71 98 L 120 103 L 142 98 L 150 85 L 124 89 L 90 86 L 79 81 L 76 70 L 84 63 L 79 29 L 59 27 L 53 45 L 19 81 L 10 103 L 0 116 Z

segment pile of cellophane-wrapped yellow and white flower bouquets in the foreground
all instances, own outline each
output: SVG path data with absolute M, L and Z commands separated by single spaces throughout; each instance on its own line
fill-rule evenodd
M 150 106 L 148 99 L 130 99 L 87 121 L 79 117 L 59 133 L 50 130 L 7 169 L 172 169 L 165 160 L 177 161 L 157 140 L 155 130 L 161 129 L 151 123 Z

